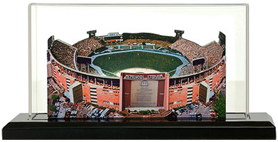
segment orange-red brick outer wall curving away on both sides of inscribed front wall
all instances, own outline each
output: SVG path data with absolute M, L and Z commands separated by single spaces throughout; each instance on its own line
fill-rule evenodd
M 54 60 L 51 63 L 51 69 L 53 70 L 54 80 L 58 83 L 58 85 L 60 85 L 60 87 L 63 87 L 65 91 L 68 91 L 68 87 L 74 82 L 81 82 L 83 89 L 83 98 L 85 98 L 85 100 L 87 100 L 87 102 L 89 103 L 92 103 L 91 100 L 95 99 L 95 103 L 99 106 L 120 110 L 123 110 L 125 107 L 129 107 L 129 105 L 131 104 L 131 80 L 123 80 L 123 78 L 121 77 L 119 79 L 119 89 L 104 88 L 104 85 L 97 85 L 96 82 L 89 82 L 88 80 L 84 82 L 83 80 L 74 78 L 76 77 L 74 71 L 65 69 L 65 67 L 59 65 L 58 62 L 55 62 Z M 171 80 L 171 78 L 170 76 L 165 74 L 163 76 L 163 78 L 165 79 L 158 80 L 157 106 L 163 104 L 163 107 L 165 109 L 173 109 L 174 107 L 179 107 L 182 105 L 187 105 L 188 103 L 196 102 L 199 96 L 199 82 L 205 81 L 208 85 L 210 85 L 211 91 L 213 91 L 220 85 L 220 82 L 221 80 L 223 80 L 224 75 L 225 64 L 224 62 L 220 62 L 215 65 L 213 69 L 206 71 L 204 73 L 205 78 L 203 78 L 202 80 L 187 82 L 186 85 L 181 85 L 179 87 L 171 89 L 169 85 L 169 80 Z M 191 78 L 194 77 L 188 76 L 186 78 L 188 78 L 188 80 L 191 80 Z M 176 78 L 175 80 L 177 79 L 179 78 Z M 105 80 L 105 78 L 102 80 Z M 124 87 L 122 87 L 122 84 L 124 84 Z M 96 92 L 92 91 L 92 88 L 94 88 L 94 90 L 96 88 Z

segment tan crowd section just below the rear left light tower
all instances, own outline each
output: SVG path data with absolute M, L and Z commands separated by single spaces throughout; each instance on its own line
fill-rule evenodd
M 88 56 L 90 55 L 90 53 L 92 53 L 92 51 L 94 51 L 97 48 L 100 48 L 102 45 L 97 41 L 97 39 L 87 38 L 77 42 L 72 46 L 77 48 L 78 55 Z

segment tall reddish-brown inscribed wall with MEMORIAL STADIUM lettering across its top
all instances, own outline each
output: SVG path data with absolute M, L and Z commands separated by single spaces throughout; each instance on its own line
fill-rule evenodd
M 167 73 L 121 73 L 120 84 L 120 111 L 168 109 Z

